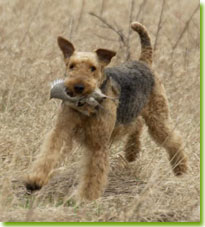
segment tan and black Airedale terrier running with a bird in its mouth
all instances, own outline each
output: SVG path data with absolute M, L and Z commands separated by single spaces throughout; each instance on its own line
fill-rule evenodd
M 53 96 L 63 102 L 56 125 L 47 135 L 40 157 L 26 179 L 27 189 L 40 189 L 48 182 L 63 154 L 71 152 L 75 139 L 86 148 L 78 195 L 81 199 L 97 199 L 107 182 L 110 142 L 126 136 L 125 157 L 134 161 L 140 151 L 144 122 L 155 142 L 167 150 L 174 174 L 186 172 L 184 145 L 172 124 L 164 86 L 150 68 L 153 52 L 150 37 L 140 23 L 133 22 L 131 27 L 139 34 L 141 56 L 138 61 L 112 68 L 105 67 L 115 52 L 107 49 L 77 52 L 72 43 L 58 38 L 66 64 L 63 86 L 68 100 L 63 98 L 62 90 L 58 90 L 60 95 L 55 91 Z M 94 93 L 103 98 L 96 98 Z M 97 104 L 90 104 L 86 97 L 92 97 Z M 84 102 L 79 101 L 83 99 Z

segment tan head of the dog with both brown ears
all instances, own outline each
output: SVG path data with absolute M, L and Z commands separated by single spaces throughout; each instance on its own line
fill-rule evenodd
M 85 96 L 99 88 L 104 80 L 103 69 L 116 53 L 106 49 L 78 52 L 71 42 L 62 37 L 58 37 L 58 45 L 66 64 L 65 86 L 68 94 Z

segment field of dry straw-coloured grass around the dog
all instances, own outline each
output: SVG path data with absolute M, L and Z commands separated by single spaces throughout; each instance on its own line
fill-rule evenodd
M 200 221 L 199 17 L 198 0 L 0 0 L 0 221 Z M 173 175 L 166 151 L 144 127 L 134 163 L 123 158 L 121 143 L 112 145 L 109 184 L 100 199 L 70 199 L 78 184 L 79 145 L 46 186 L 27 194 L 23 178 L 60 103 L 49 100 L 50 82 L 65 72 L 57 36 L 77 50 L 113 49 L 116 65 L 139 57 L 139 38 L 129 27 L 135 20 L 150 33 L 153 69 L 184 138 L 188 173 Z

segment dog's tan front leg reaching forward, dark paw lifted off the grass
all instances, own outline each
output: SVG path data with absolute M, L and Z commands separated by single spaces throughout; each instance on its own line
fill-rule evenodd
M 46 136 L 40 154 L 25 179 L 28 190 L 37 190 L 45 185 L 62 155 L 71 151 L 74 123 L 72 111 L 62 106 L 55 127 Z

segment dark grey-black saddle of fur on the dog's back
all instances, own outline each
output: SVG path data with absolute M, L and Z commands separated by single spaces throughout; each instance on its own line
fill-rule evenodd
M 142 62 L 132 61 L 107 68 L 105 74 L 120 87 L 117 122 L 130 123 L 139 115 L 152 91 L 154 77 L 151 70 Z

